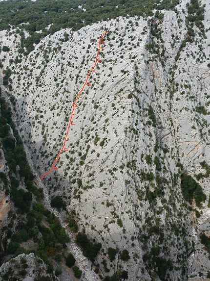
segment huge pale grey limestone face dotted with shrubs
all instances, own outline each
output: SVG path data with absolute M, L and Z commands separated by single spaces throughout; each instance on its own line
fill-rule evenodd
M 43 181 L 102 243 L 101 270 L 125 270 L 130 281 L 187 280 L 210 268 L 199 238 L 202 230 L 210 235 L 208 200 L 197 219 L 180 188 L 180 167 L 193 176 L 204 173 L 200 162 L 210 162 L 210 7 L 201 1 L 205 37 L 194 26 L 189 42 L 187 3 L 162 11 L 158 21 L 120 17 L 61 30 L 28 57 L 20 57 L 19 35 L 1 31 L 11 48 L 0 59 L 13 69 L 16 122 L 40 177 L 62 148 L 72 102 L 94 65 L 99 38 L 109 31 L 102 62 L 75 110 L 68 151 Z M 209 199 L 209 179 L 200 185 Z M 127 250 L 130 258 L 123 261 L 119 253 L 111 263 L 108 247 Z

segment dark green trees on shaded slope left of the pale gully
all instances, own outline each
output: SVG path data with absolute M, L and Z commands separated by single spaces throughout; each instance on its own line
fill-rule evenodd
M 6 125 L 8 124 L 8 125 Z M 8 135 L 10 129 L 14 132 L 14 137 Z M 33 251 L 42 260 L 49 265 L 47 271 L 52 272 L 52 264 L 48 260 L 48 256 L 54 256 L 57 262 L 61 261 L 61 254 L 57 253 L 62 251 L 66 247 L 65 243 L 69 241 L 68 235 L 65 233 L 64 228 L 61 226 L 58 218 L 51 214 L 44 208 L 44 205 L 39 202 L 33 203 L 33 209 L 31 209 L 32 193 L 36 198 L 40 199 L 43 196 L 42 190 L 38 189 L 33 184 L 33 173 L 26 160 L 26 154 L 23 149 L 23 144 L 18 131 L 15 130 L 14 123 L 11 119 L 11 111 L 6 107 L 4 99 L 0 98 L 0 138 L 2 148 L 4 150 L 7 165 L 9 167 L 9 179 L 10 179 L 10 198 L 14 202 L 16 214 L 9 215 L 8 219 L 11 222 L 8 224 L 8 230 L 6 231 L 6 237 L 11 238 L 11 242 L 7 246 L 7 241 L 3 242 L 5 253 L 0 248 L 0 258 L 5 254 L 20 255 L 22 253 L 28 253 L 23 247 L 20 247 L 20 243 L 27 241 L 30 237 L 33 237 L 34 242 L 37 243 L 37 247 Z M 19 171 L 16 170 L 16 166 L 19 165 Z M 19 174 L 19 175 L 18 175 Z M 13 176 L 11 176 L 13 175 Z M 20 180 L 14 176 L 22 177 L 21 181 L 25 183 L 28 190 L 19 189 Z M 5 187 L 8 186 L 8 179 L 4 173 L 0 173 L 0 179 L 4 182 Z M 8 189 L 9 190 L 9 189 Z M 6 191 L 8 192 L 8 191 Z M 5 193 L 6 193 L 5 192 Z M 26 215 L 22 215 L 25 214 Z M 19 215 L 20 214 L 20 215 Z M 42 224 L 42 219 L 45 216 L 46 221 L 50 227 L 46 227 Z M 13 219 L 18 217 L 13 231 L 14 222 Z M 14 233 L 15 232 L 15 233 Z M 40 232 L 42 238 L 38 239 L 37 234 Z M 14 233 L 14 234 L 13 234 Z M 2 237 L 1 237 L 2 238 Z M 22 266 L 27 268 L 27 264 Z M 24 269 L 21 274 L 24 276 Z M 6 277 L 5 277 L 6 278 Z M 8 278 L 6 279 L 8 280 Z

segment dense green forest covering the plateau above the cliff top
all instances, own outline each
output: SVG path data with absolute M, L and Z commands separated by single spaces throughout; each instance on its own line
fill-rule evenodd
M 163 0 L 159 3 L 159 9 L 173 9 L 178 3 L 178 0 Z M 78 6 L 83 5 L 86 12 Z M 68 0 L 40 0 L 40 1 L 2 1 L 0 2 L 0 30 L 10 29 L 11 26 L 20 26 L 25 28 L 30 36 L 24 38 L 24 33 L 21 31 L 21 48 L 26 47 L 27 51 L 34 49 L 33 43 L 37 44 L 40 39 L 48 34 L 60 30 L 61 28 L 72 28 L 79 30 L 83 26 L 106 21 L 107 18 L 116 18 L 119 16 L 152 16 L 152 10 L 155 9 L 155 0 L 118 0 L 113 1 L 98 1 L 92 0 L 73 0 L 69 3 Z M 47 11 L 47 12 L 46 12 Z M 27 24 L 26 24 L 27 23 Z M 49 30 L 45 29 L 50 25 Z M 131 22 L 132 25 L 132 22 Z M 42 33 L 36 31 L 42 30 Z M 68 40 L 68 34 L 63 34 L 64 39 Z

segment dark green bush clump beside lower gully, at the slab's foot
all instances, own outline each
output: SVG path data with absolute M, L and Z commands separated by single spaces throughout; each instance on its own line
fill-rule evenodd
M 90 242 L 85 233 L 78 232 L 76 235 L 76 242 L 79 244 L 83 250 L 83 255 L 88 257 L 92 262 L 94 262 L 95 256 L 101 249 L 101 243 Z

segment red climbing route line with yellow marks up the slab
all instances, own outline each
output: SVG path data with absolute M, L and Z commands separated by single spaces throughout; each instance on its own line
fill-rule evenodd
M 106 33 L 108 33 L 108 32 L 106 32 Z M 79 98 L 82 98 L 82 97 L 80 96 L 80 94 L 81 94 L 82 91 L 84 90 L 84 87 L 85 87 L 86 85 L 87 85 L 87 86 L 90 86 L 90 85 L 91 85 L 91 84 L 88 82 L 88 78 L 89 78 L 91 72 L 93 71 L 93 69 L 96 67 L 97 62 L 101 62 L 101 59 L 98 58 L 98 55 L 99 55 L 100 50 L 103 50 L 103 51 L 104 51 L 104 49 L 102 49 L 102 48 L 100 47 L 100 44 L 105 44 L 105 42 L 102 40 L 104 36 L 105 36 L 105 31 L 103 32 L 102 37 L 99 39 L 99 50 L 97 51 L 97 54 L 96 54 L 95 64 L 94 64 L 94 66 L 90 69 L 90 71 L 89 71 L 89 73 L 88 73 L 88 75 L 87 75 L 87 77 L 86 77 L 86 80 L 85 80 L 85 82 L 84 82 L 83 88 L 82 88 L 82 89 L 80 90 L 80 92 L 77 94 L 77 98 L 76 98 L 76 100 L 73 102 L 73 108 L 72 108 L 72 112 L 71 112 L 71 117 L 70 117 L 70 120 L 69 120 L 69 123 L 68 123 L 67 133 L 66 133 L 66 135 L 64 136 L 64 141 L 63 141 L 62 149 L 60 150 L 58 156 L 55 158 L 55 160 L 54 160 L 54 162 L 53 162 L 53 164 L 52 164 L 51 169 L 50 169 L 47 173 L 45 173 L 45 174 L 42 176 L 41 179 L 43 179 L 46 175 L 48 175 L 52 170 L 58 170 L 58 168 L 55 166 L 56 161 L 60 161 L 59 157 L 60 157 L 60 155 L 61 155 L 61 153 L 62 153 L 63 151 L 65 151 L 65 152 L 68 151 L 67 148 L 65 148 L 65 143 L 66 143 L 66 140 L 68 140 L 68 132 L 69 132 L 70 126 L 75 126 L 75 124 L 74 124 L 73 121 L 72 121 L 72 117 L 75 115 L 75 114 L 74 114 L 74 109 L 75 109 L 76 107 L 78 107 L 78 105 L 76 104 L 76 102 L 78 101 Z M 94 72 L 95 72 L 95 71 L 94 71 Z

